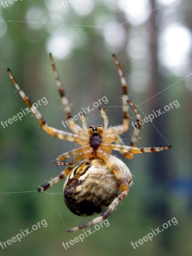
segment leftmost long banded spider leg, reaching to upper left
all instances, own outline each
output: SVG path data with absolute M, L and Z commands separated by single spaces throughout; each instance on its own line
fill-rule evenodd
M 36 108 L 33 107 L 32 102 L 29 99 L 29 97 L 27 97 L 25 95 L 23 90 L 21 90 L 20 86 L 17 84 L 17 82 L 13 78 L 11 70 L 9 70 L 9 68 L 8 68 L 7 71 L 9 73 L 10 79 L 12 80 L 13 84 L 15 85 L 17 90 L 19 91 L 20 96 L 23 98 L 23 101 L 26 103 L 26 105 L 29 107 L 29 109 L 32 111 L 32 113 L 36 116 L 36 118 L 38 119 L 39 124 L 44 129 L 44 131 L 46 131 L 48 134 L 50 134 L 54 137 L 58 137 L 59 139 L 62 139 L 62 140 L 75 141 L 79 144 L 82 143 L 82 145 L 84 144 L 84 138 L 82 139 L 82 138 L 80 138 L 79 136 L 77 136 L 75 134 L 64 132 L 64 131 L 61 131 L 61 130 L 58 130 L 56 128 L 52 128 L 52 127 L 48 126 L 47 123 L 45 122 L 45 120 L 43 119 L 43 117 L 41 116 L 41 113 Z

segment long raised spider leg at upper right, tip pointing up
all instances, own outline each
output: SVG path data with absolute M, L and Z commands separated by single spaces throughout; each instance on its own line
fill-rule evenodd
M 123 106 L 123 124 L 116 126 L 116 132 L 118 134 L 123 134 L 125 131 L 128 130 L 129 127 L 129 114 L 128 114 L 128 105 L 126 104 L 126 101 L 128 100 L 128 86 L 125 81 L 125 77 L 123 76 L 121 67 L 119 65 L 119 61 L 116 58 L 116 55 L 113 54 L 113 59 L 115 61 L 117 71 L 119 74 L 119 78 L 122 84 L 122 106 Z

